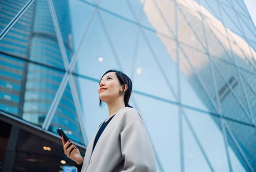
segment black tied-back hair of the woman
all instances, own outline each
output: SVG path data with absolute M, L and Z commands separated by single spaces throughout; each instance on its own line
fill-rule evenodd
M 117 78 L 118 78 L 119 83 L 120 83 L 121 86 L 124 87 L 124 84 L 127 85 L 127 90 L 125 92 L 124 91 L 121 92 L 121 94 L 124 93 L 124 105 L 125 105 L 125 107 L 132 108 L 132 106 L 129 105 L 129 99 L 130 99 L 131 93 L 132 93 L 132 80 L 121 71 L 111 69 L 111 70 L 106 71 L 105 74 L 107 74 L 109 72 L 115 72 L 116 73 Z M 105 74 L 103 74 L 102 77 Z M 102 100 L 100 99 L 100 107 L 101 106 L 102 106 Z

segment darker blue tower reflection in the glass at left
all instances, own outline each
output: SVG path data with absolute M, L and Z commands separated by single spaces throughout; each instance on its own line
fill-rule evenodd
M 51 5 L 57 21 L 52 20 Z M 0 7 L 0 109 L 41 127 L 65 73 L 62 54 L 68 61 L 73 54 L 68 0 L 54 0 L 52 4 L 45 0 L 8 0 L 1 1 Z M 62 50 L 56 23 L 64 42 Z M 56 133 L 61 127 L 70 138 L 84 144 L 77 123 L 67 86 L 48 130 Z

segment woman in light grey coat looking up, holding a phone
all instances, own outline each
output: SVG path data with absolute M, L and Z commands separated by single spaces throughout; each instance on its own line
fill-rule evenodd
M 139 113 L 129 104 L 132 81 L 120 71 L 105 72 L 99 82 L 100 106 L 104 101 L 109 118 L 87 146 L 85 157 L 69 140 L 64 153 L 82 172 L 154 172 L 154 151 Z

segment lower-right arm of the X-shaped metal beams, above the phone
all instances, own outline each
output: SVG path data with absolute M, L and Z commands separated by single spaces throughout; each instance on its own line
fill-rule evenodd
M 72 77 L 70 77 L 68 79 L 68 83 L 69 83 L 70 90 L 71 90 L 72 97 L 73 97 L 73 101 L 74 101 L 74 104 L 75 104 L 75 109 L 76 109 L 76 113 L 77 113 L 77 117 L 78 117 L 78 123 L 79 123 L 80 129 L 81 129 L 82 135 L 83 135 L 85 145 L 87 146 L 89 142 L 88 142 L 86 128 L 85 128 L 85 125 L 83 123 L 83 121 L 85 121 L 85 119 L 84 119 L 83 111 L 82 111 L 82 108 L 81 108 L 81 105 L 80 105 L 80 102 L 79 102 L 79 97 L 78 97 L 78 93 L 77 93 L 77 90 L 76 90 L 75 81 Z

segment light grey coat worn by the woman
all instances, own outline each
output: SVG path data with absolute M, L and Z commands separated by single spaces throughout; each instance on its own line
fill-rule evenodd
M 156 171 L 151 142 L 139 113 L 133 108 L 117 112 L 92 153 L 96 134 L 87 146 L 82 172 Z

